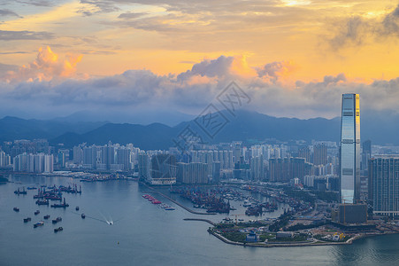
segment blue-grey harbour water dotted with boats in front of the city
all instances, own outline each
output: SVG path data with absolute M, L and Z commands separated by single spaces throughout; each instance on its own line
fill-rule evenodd
M 211 236 L 206 231 L 210 224 L 183 220 L 199 217 L 220 221 L 226 215 L 193 215 L 153 194 L 176 208 L 165 211 L 143 199 L 142 193 L 150 190 L 134 181 L 81 184 L 65 177 L 10 176 L 10 179 L 21 184 L 0 184 L 2 266 L 399 264 L 399 235 L 359 239 L 344 246 L 232 246 Z M 27 195 L 13 193 L 18 187 L 38 184 L 81 184 L 82 194 L 64 193 L 70 207 L 56 209 L 35 205 L 35 190 Z M 181 202 L 191 207 L 188 202 Z M 19 207 L 20 211 L 14 212 L 13 207 Z M 242 211 L 236 207 L 237 213 Z M 36 209 L 40 210 L 39 215 L 34 215 Z M 270 215 L 278 216 L 280 211 Z M 81 213 L 86 219 L 81 219 Z M 43 220 L 43 215 L 50 215 L 50 219 Z M 32 221 L 23 223 L 27 216 Z M 51 219 L 58 216 L 62 222 L 52 224 Z M 33 224 L 41 220 L 45 224 L 34 229 Z M 111 225 L 107 223 L 111 221 Z M 54 233 L 59 226 L 64 231 Z

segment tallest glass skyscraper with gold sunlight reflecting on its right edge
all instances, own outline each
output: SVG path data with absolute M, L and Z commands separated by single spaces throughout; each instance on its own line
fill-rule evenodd
M 342 94 L 341 202 L 360 200 L 360 108 L 358 94 Z

